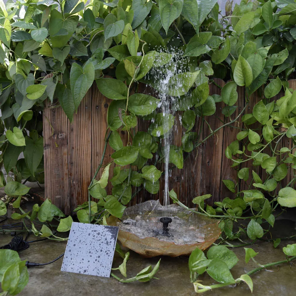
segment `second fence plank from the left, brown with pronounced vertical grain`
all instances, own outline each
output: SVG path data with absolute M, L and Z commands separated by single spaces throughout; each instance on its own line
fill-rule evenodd
M 91 89 L 81 101 L 68 125 L 68 167 L 70 208 L 88 200 L 91 182 Z

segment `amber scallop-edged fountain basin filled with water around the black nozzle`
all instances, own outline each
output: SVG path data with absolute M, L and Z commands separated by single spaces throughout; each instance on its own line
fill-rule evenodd
M 209 247 L 221 234 L 219 221 L 173 204 L 169 205 L 168 212 L 168 216 L 173 219 L 168 227 L 168 233 L 172 235 L 171 237 L 163 236 L 161 234 L 162 223 L 159 222 L 159 219 L 163 217 L 163 211 L 164 207 L 160 205 L 159 200 L 148 200 L 126 208 L 120 220 L 110 216 L 107 223 L 111 226 L 119 226 L 118 240 L 123 247 L 147 258 L 159 255 L 171 257 L 190 255 L 196 247 L 200 250 Z M 186 221 L 184 226 L 173 225 L 174 221 L 180 220 Z M 135 226 L 130 226 L 131 229 L 127 231 L 129 225 L 126 227 L 126 221 L 135 221 L 133 222 Z M 149 228 L 152 232 L 148 230 L 147 234 L 142 234 L 142 227 Z M 145 232 L 144 228 L 143 232 Z M 180 233 L 186 238 L 183 242 L 181 242 Z

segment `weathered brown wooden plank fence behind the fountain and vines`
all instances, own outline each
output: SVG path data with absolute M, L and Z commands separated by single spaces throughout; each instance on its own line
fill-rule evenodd
M 225 82 L 216 79 L 215 82 L 223 86 Z M 296 80 L 289 81 L 290 87 L 296 89 Z M 143 93 L 151 91 L 141 85 Z M 231 118 L 235 118 L 244 108 L 244 88 L 238 87 L 238 108 Z M 221 94 L 221 89 L 215 84 L 210 85 L 210 94 Z M 281 92 L 275 99 L 283 96 Z M 262 97 L 253 94 L 245 113 L 251 113 L 253 106 Z M 111 100 L 99 93 L 94 84 L 84 97 L 73 122 L 70 124 L 61 107 L 52 108 L 49 104 L 44 109 L 44 167 L 45 167 L 45 197 L 70 214 L 76 205 L 88 200 L 88 186 L 101 160 L 104 148 L 104 136 L 107 129 L 107 109 Z M 206 116 L 212 130 L 223 125 L 224 118 L 223 102 L 216 104 L 215 115 Z M 201 120 L 197 120 L 195 131 L 200 130 Z M 237 123 L 236 123 L 237 125 Z M 147 122 L 139 122 L 137 130 L 147 130 Z M 252 128 L 255 125 L 252 125 Z M 258 126 L 259 127 L 259 126 Z M 176 126 L 173 130 L 173 144 L 181 145 L 181 137 L 184 129 L 176 117 Z M 212 194 L 208 200 L 210 204 L 222 200 L 224 197 L 233 197 L 222 180 L 229 179 L 237 182 L 236 168 L 231 168 L 232 162 L 225 157 L 226 147 L 236 139 L 238 130 L 235 127 L 226 126 L 221 128 L 215 136 L 207 139 L 205 143 L 191 152 L 184 160 L 182 170 L 174 168 L 169 179 L 169 189 L 174 189 L 181 202 L 191 206 L 192 199 L 203 194 Z M 204 124 L 201 138 L 204 139 L 210 133 L 210 128 Z M 126 131 L 121 131 L 123 142 L 127 141 Z M 285 138 L 278 147 L 292 147 L 292 140 Z M 110 162 L 114 150 L 108 145 L 104 164 Z M 184 157 L 185 159 L 185 157 Z M 244 163 L 244 166 L 251 161 Z M 250 170 L 250 173 L 252 170 Z M 265 170 L 260 170 L 264 176 Z M 102 174 L 100 170 L 98 177 Z M 110 168 L 110 176 L 113 168 Z M 287 184 L 293 172 L 282 181 Z M 248 182 L 250 183 L 251 178 Z M 240 189 L 246 189 L 245 182 L 240 182 Z M 111 194 L 110 185 L 107 186 L 107 194 Z M 160 191 L 158 194 L 149 194 L 141 191 L 133 198 L 131 204 L 139 203 L 148 199 L 163 199 L 164 180 L 160 179 Z

